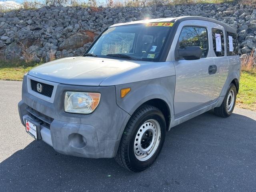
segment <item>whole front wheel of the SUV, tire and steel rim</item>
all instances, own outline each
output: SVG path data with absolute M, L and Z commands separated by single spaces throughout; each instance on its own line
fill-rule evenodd
M 154 106 L 142 106 L 126 125 L 116 161 L 133 172 L 145 170 L 160 153 L 165 133 L 166 123 L 162 112 Z

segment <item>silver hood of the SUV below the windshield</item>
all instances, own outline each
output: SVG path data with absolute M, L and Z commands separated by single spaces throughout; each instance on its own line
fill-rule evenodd
M 138 64 L 132 60 L 70 57 L 37 66 L 28 74 L 63 84 L 98 86 L 104 79 L 136 67 Z

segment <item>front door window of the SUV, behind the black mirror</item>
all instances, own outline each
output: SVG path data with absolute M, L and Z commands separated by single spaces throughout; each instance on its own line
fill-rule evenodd
M 179 49 L 198 46 L 202 49 L 202 58 L 208 53 L 207 30 L 204 27 L 185 26 L 182 28 L 179 37 Z

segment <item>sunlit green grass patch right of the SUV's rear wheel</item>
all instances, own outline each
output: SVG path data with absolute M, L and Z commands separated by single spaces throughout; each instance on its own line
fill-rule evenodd
M 256 70 L 242 71 L 236 106 L 256 111 Z

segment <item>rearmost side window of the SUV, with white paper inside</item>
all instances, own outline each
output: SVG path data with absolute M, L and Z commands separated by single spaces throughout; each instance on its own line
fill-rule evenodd
M 227 32 L 227 56 L 238 55 L 238 37 L 237 34 Z

